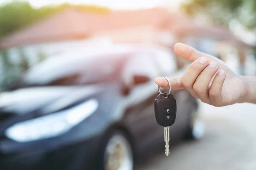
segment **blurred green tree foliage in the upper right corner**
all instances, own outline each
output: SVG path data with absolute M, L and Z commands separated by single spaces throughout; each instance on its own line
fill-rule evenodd
M 181 10 L 193 16 L 204 14 L 223 26 L 237 20 L 247 28 L 256 27 L 256 0 L 187 0 Z

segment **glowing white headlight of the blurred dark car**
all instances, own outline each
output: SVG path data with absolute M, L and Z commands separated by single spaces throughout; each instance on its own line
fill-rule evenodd
M 59 136 L 78 125 L 98 108 L 96 99 L 90 99 L 73 108 L 17 123 L 5 131 L 16 142 L 31 142 Z

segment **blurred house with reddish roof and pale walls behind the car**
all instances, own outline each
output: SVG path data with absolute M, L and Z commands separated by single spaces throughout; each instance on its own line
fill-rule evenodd
M 38 62 L 38 56 L 51 56 L 98 40 L 152 42 L 172 47 L 175 42 L 186 42 L 189 38 L 191 45 L 198 40 L 214 40 L 241 47 L 241 42 L 228 31 L 198 26 L 192 19 L 164 8 L 109 14 L 89 14 L 67 8 L 3 38 L 0 48 L 9 49 L 10 55 L 16 56 L 22 51 L 33 65 Z

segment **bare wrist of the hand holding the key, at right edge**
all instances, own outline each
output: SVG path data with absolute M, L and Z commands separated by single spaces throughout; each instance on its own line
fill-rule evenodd
M 256 77 L 241 76 L 244 82 L 244 95 L 241 97 L 242 102 L 256 103 Z

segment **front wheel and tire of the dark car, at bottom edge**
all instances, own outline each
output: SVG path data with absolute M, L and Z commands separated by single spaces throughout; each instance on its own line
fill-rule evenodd
M 102 140 L 97 170 L 133 170 L 134 156 L 128 136 L 120 130 L 109 132 Z

